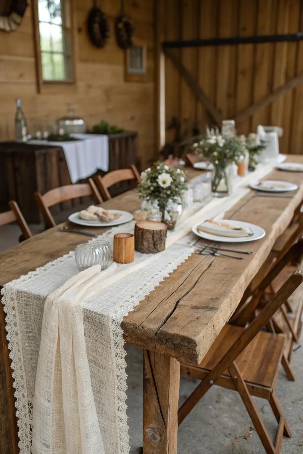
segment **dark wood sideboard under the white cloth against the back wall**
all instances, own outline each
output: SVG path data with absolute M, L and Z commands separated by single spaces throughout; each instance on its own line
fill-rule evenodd
M 136 132 L 109 135 L 109 172 L 139 165 L 136 158 Z M 104 175 L 98 171 L 96 174 Z M 70 184 L 70 174 L 61 147 L 33 145 L 20 142 L 0 142 L 0 212 L 8 209 L 7 203 L 16 200 L 27 222 L 39 223 L 40 214 L 34 192 L 42 194 L 52 188 Z M 111 195 L 134 187 L 132 182 L 114 185 Z M 79 204 L 79 199 L 53 207 L 69 210 Z

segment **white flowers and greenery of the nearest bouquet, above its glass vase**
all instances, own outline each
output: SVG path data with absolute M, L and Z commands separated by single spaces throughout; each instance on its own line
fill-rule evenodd
M 139 197 L 151 203 L 157 201 L 160 208 L 168 201 L 181 204 L 183 193 L 187 190 L 184 171 L 159 162 L 144 170 L 141 180 Z

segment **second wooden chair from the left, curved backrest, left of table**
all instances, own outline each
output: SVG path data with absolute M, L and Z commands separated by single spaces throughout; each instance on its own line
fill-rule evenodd
M 84 196 L 91 196 L 95 203 L 103 202 L 92 178 L 88 179 L 88 183 L 60 186 L 59 188 L 50 189 L 50 191 L 45 192 L 43 195 L 41 195 L 40 192 L 35 192 L 35 200 L 44 217 L 46 228 L 55 227 L 56 225 L 49 207 L 60 202 L 65 202 L 65 200 Z

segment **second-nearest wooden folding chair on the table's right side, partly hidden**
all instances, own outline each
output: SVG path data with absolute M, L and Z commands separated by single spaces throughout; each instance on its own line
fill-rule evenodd
M 259 310 L 267 303 L 267 289 L 271 289 L 273 295 L 273 282 L 277 276 L 281 279 L 281 273 L 284 272 L 284 280 L 289 276 L 289 265 L 292 262 L 301 262 L 303 257 L 303 238 L 297 243 L 294 243 L 284 255 L 274 262 L 268 274 L 263 277 L 263 280 L 253 290 L 250 298 L 247 298 L 241 305 L 238 306 L 230 323 L 237 326 L 245 326 L 255 316 L 255 311 Z M 293 269 L 290 268 L 292 271 Z M 286 277 L 285 277 L 286 273 Z M 283 276 L 282 276 L 283 279 Z M 293 295 L 292 299 L 286 300 L 285 304 L 280 307 L 275 316 L 268 322 L 267 328 L 274 333 L 286 335 L 285 352 L 282 358 L 282 365 L 286 372 L 288 380 L 294 380 L 293 371 L 290 366 L 290 360 L 293 349 L 293 342 L 299 344 L 300 331 L 302 328 L 301 317 L 303 312 L 303 298 L 300 295 Z

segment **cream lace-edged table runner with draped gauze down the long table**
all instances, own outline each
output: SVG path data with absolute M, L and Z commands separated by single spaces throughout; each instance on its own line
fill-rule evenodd
M 129 452 L 123 316 L 193 252 L 195 222 L 228 210 L 250 179 L 271 170 L 263 165 L 238 179 L 230 197 L 194 204 L 163 252 L 135 252 L 133 263 L 80 273 L 70 252 L 4 286 L 20 453 Z M 100 237 L 112 242 L 133 231 L 134 221 Z

